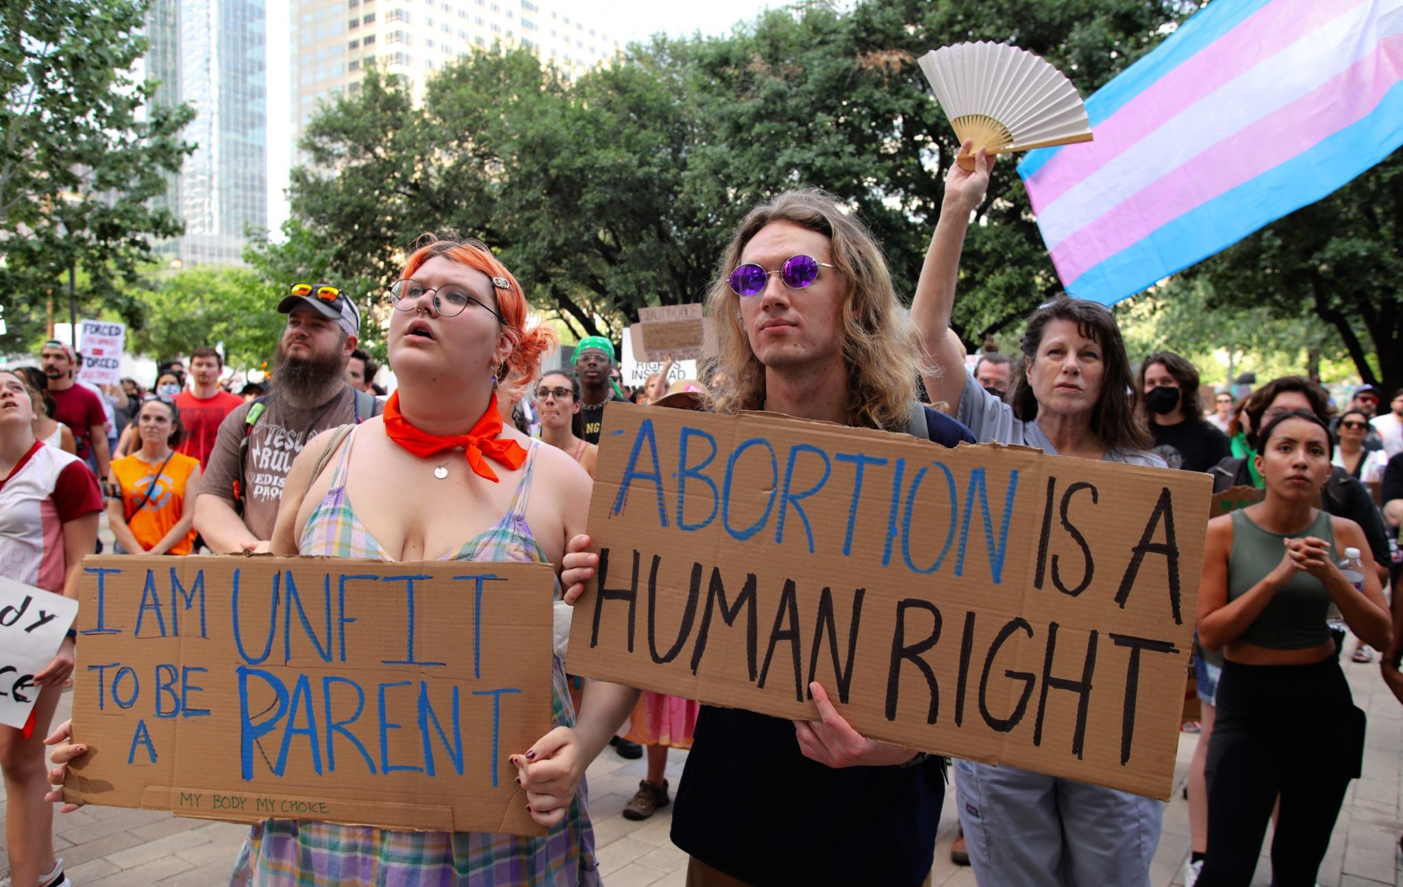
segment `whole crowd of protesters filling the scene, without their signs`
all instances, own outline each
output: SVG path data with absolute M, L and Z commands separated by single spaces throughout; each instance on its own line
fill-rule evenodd
M 41 371 L 0 371 L 0 538 L 25 546 L 0 573 L 73 595 L 105 490 L 118 552 L 551 563 L 568 615 L 598 566 L 584 533 L 606 406 L 624 400 L 1208 473 L 1218 491 L 1261 493 L 1208 526 L 1184 883 L 1247 884 L 1275 815 L 1273 883 L 1313 884 L 1361 773 L 1347 632 L 1348 658 L 1382 651 L 1403 699 L 1383 591 L 1399 571 L 1403 392 L 1385 404 L 1360 386 L 1338 408 L 1302 376 L 1205 392 L 1184 356 L 1128 354 L 1110 310 L 1065 295 L 1027 317 L 1016 354 L 986 344 L 967 372 L 951 316 L 992 166 L 981 156 L 947 177 L 909 312 L 880 244 L 832 196 L 796 189 L 751 209 L 706 293 L 717 355 L 703 379 L 669 380 L 669 359 L 626 390 L 598 335 L 542 372 L 554 335 L 528 324 L 521 284 L 485 244 L 456 239 L 415 244 L 390 289 L 389 397 L 355 300 L 328 284 L 282 295 L 265 389 L 224 390 L 220 354 L 196 348 L 188 371 L 160 368 L 152 394 L 133 380 L 94 392 L 76 382 L 73 351 L 48 342 Z M 69 639 L 36 676 L 29 730 L 0 727 L 17 887 L 69 883 L 45 792 L 86 748 L 60 726 L 45 773 L 39 737 L 74 655 Z M 511 758 L 544 838 L 267 820 L 231 883 L 600 883 L 584 772 L 607 745 L 647 755 L 623 815 L 673 806 L 690 886 L 929 883 L 950 762 L 861 737 L 821 685 L 819 719 L 791 721 L 579 681 L 558 650 L 551 665 L 551 730 Z M 675 790 L 673 748 L 689 749 Z M 1013 766 L 953 772 L 954 852 L 982 887 L 1149 883 L 1162 801 Z

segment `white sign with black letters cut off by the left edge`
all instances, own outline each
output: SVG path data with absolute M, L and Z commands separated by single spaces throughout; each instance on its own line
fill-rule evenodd
M 22 730 L 39 698 L 34 675 L 53 661 L 79 602 L 0 577 L 0 724 Z

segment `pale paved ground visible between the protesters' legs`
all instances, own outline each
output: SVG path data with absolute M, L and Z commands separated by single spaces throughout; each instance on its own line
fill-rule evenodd
M 1364 779 L 1350 787 L 1336 825 L 1330 852 L 1320 870 L 1323 887 L 1403 887 L 1397 838 L 1403 828 L 1403 707 L 1378 678 L 1375 665 L 1345 664 L 1355 703 L 1368 712 L 1368 748 Z M 67 717 L 66 696 L 59 717 Z M 1302 717 L 1309 713 L 1302 713 Z M 1197 737 L 1183 735 L 1179 745 L 1176 794 L 1164 815 L 1164 831 L 1155 855 L 1155 887 L 1179 887 L 1188 855 L 1188 810 L 1179 793 Z M 673 752 L 668 779 L 676 786 L 685 752 Z M 607 887 L 679 887 L 686 856 L 668 839 L 671 807 L 651 820 L 631 822 L 620 815 L 637 789 L 641 761 L 626 762 L 613 751 L 589 768 L 589 797 L 595 820 L 600 870 Z M 955 806 L 947 797 L 941 810 L 933 883 L 974 887 L 974 874 L 950 863 Z M 6 806 L 0 799 L 0 822 Z M 59 855 L 80 887 L 137 887 L 147 884 L 206 887 L 227 881 L 246 827 L 203 820 L 181 820 L 164 813 L 90 807 L 59 817 L 55 827 Z M 1270 846 L 1270 834 L 1266 842 Z M 8 858 L 0 848 L 0 873 Z M 3 883 L 4 879 L 0 879 Z M 1253 884 L 1270 884 L 1270 863 L 1263 858 Z

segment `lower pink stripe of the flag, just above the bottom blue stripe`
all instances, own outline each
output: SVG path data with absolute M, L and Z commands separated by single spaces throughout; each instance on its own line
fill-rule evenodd
M 1376 73 L 1379 69 L 1388 74 Z M 1393 35 L 1329 83 L 1209 145 L 1184 166 L 1078 229 L 1052 250 L 1052 264 L 1063 281 L 1075 281 L 1186 212 L 1368 116 L 1399 80 L 1403 80 L 1403 35 Z

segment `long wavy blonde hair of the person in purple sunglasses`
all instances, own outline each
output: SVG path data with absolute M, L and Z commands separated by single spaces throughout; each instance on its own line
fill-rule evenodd
M 847 421 L 864 428 L 905 431 L 922 361 L 915 330 L 881 247 L 867 227 L 845 215 L 826 191 L 786 191 L 746 213 L 721 254 L 707 305 L 717 330 L 717 368 L 727 385 L 714 393 L 717 413 L 765 407 L 765 365 L 741 326 L 741 296 L 731 291 L 731 271 L 745 244 L 772 222 L 793 222 L 828 237 L 832 262 L 847 281 L 839 337 L 847 373 Z

